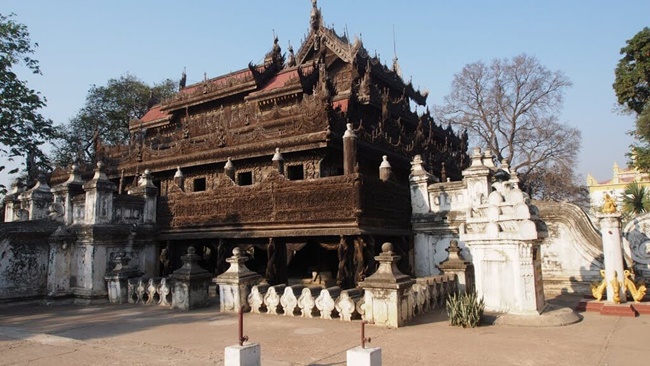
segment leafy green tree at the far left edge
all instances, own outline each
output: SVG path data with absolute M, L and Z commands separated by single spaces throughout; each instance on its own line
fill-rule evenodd
M 14 16 L 0 14 L 0 158 L 24 158 L 26 183 L 30 183 L 39 170 L 49 169 L 41 146 L 54 136 L 54 128 L 39 112 L 45 107 L 45 98 L 30 89 L 15 70 L 23 67 L 41 74 L 38 61 L 31 57 L 38 44 L 32 45 L 27 27 L 13 20 Z M 0 164 L 0 171 L 4 169 Z M 0 185 L 0 192 L 5 191 Z

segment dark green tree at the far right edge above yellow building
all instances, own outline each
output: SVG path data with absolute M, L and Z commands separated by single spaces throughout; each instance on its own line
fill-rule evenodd
M 627 46 L 621 48 L 623 57 L 616 66 L 614 91 L 623 110 L 636 115 L 632 145 L 634 164 L 650 170 L 650 28 L 643 28 Z

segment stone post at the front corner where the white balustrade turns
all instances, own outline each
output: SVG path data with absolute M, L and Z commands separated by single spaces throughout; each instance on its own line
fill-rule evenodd
M 397 328 L 413 317 L 409 297 L 415 283 L 397 269 L 400 256 L 393 254 L 393 245 L 384 243 L 382 253 L 375 257 L 379 268 L 372 276 L 359 283 L 364 292 L 364 320 L 383 327 Z

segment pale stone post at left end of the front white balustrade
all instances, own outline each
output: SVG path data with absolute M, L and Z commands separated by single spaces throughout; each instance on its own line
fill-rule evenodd
M 243 306 L 244 311 L 250 311 L 248 295 L 251 287 L 256 285 L 262 276 L 249 270 L 245 262 L 248 257 L 242 256 L 239 248 L 232 251 L 232 257 L 227 258 L 230 268 L 214 279 L 219 285 L 219 308 L 221 312 L 239 312 Z

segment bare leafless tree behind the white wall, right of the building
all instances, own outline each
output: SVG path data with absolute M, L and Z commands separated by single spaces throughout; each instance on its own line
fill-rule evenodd
M 451 93 L 435 110 L 439 120 L 466 129 L 473 143 L 514 169 L 531 195 L 573 190 L 580 131 L 558 121 L 570 86 L 564 73 L 525 54 L 489 65 L 478 61 L 454 75 Z

